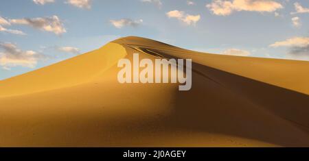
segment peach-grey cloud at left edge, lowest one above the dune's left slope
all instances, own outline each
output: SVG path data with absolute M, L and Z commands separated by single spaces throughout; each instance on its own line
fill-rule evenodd
M 34 68 L 38 60 L 44 57 L 35 51 L 22 51 L 10 42 L 0 43 L 0 48 L 3 49 L 0 51 L 0 66 L 3 69 L 9 70 L 14 66 Z

